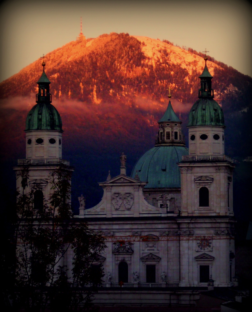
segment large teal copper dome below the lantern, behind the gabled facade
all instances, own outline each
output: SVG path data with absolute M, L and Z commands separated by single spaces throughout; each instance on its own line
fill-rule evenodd
M 131 177 L 134 178 L 138 171 L 140 181 L 148 181 L 145 188 L 180 188 L 177 163 L 183 155 L 188 155 L 184 146 L 153 147 L 137 161 Z

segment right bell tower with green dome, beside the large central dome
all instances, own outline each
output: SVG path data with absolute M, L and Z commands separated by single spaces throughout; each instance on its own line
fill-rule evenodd
M 224 115 L 213 100 L 212 76 L 207 68 L 199 76 L 201 88 L 188 121 L 189 155 L 179 163 L 182 215 L 233 216 L 233 169 L 224 154 Z

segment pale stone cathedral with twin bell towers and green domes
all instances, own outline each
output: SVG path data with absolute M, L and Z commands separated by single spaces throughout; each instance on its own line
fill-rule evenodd
M 37 104 L 26 119 L 26 159 L 14 168 L 18 173 L 24 163 L 31 165 L 27 188 L 40 185 L 34 192 L 36 205 L 49 198 L 50 172 L 60 163 L 73 171 L 62 159 L 62 122 L 51 104 L 44 62 L 42 66 Z M 199 78 L 199 99 L 188 119 L 189 149 L 169 94 L 155 146 L 140 157 L 132 173 L 127 175 L 122 153 L 120 174 L 109 173 L 99 183 L 101 202 L 86 209 L 84 197 L 78 198 L 76 222 L 87 222 L 106 239 L 107 248 L 95 264 L 102 264 L 105 274 L 96 305 L 193 305 L 202 290 L 234 285 L 235 166 L 224 153 L 224 115 L 213 100 L 207 58 Z M 69 249 L 64 257 L 69 281 L 72 259 Z

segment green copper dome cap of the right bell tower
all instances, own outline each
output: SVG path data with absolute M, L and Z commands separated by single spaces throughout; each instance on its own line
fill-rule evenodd
M 224 115 L 220 105 L 213 99 L 199 99 L 190 110 L 188 127 L 224 126 Z

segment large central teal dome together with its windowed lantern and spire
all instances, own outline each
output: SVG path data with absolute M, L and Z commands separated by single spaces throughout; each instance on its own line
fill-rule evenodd
M 180 172 L 177 163 L 188 155 L 181 130 L 182 122 L 175 114 L 169 93 L 169 103 L 161 119 L 155 147 L 147 151 L 135 164 L 131 177 L 148 181 L 144 189 L 180 188 Z

